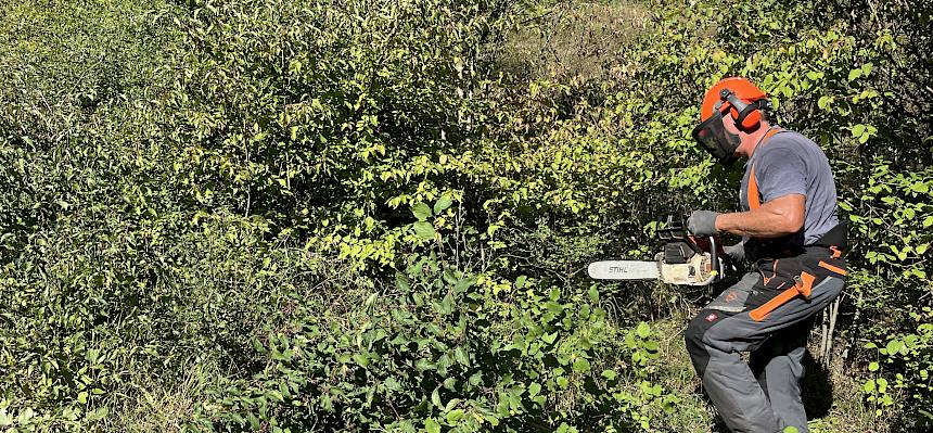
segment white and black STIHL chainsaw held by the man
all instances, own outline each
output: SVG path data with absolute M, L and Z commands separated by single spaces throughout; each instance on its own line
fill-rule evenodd
M 587 268 L 597 280 L 661 280 L 677 285 L 707 285 L 725 277 L 726 263 L 715 237 L 696 239 L 687 230 L 682 217 L 661 221 L 657 238 L 664 243 L 653 262 L 605 260 Z

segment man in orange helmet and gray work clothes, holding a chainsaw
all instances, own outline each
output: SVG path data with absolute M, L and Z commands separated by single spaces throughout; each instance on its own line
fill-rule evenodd
M 749 161 L 742 212 L 696 211 L 688 228 L 741 235 L 726 253 L 747 258 L 751 270 L 690 321 L 687 349 L 731 431 L 807 432 L 802 361 L 814 315 L 842 291 L 845 226 L 826 155 L 772 126 L 768 109 L 765 92 L 744 78 L 720 80 L 703 100 L 694 139 L 724 165 Z

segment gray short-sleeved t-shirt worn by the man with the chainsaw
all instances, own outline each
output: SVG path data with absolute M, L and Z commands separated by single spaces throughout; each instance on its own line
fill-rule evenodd
M 739 191 L 742 211 L 749 211 L 749 176 L 753 166 L 761 203 L 787 194 L 806 196 L 804 230 L 789 237 L 788 242 L 800 245 L 803 241 L 804 245 L 810 245 L 839 224 L 835 182 L 829 161 L 813 140 L 782 130 L 758 144 L 745 163 Z

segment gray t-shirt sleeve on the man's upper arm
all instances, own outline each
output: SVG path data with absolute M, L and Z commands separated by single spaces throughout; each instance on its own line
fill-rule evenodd
M 774 142 L 763 149 L 755 178 L 762 200 L 771 200 L 788 194 L 807 194 L 806 162 L 792 143 Z

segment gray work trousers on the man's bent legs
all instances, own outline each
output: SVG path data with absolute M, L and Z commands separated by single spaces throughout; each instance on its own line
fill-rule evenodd
M 690 321 L 687 349 L 726 425 L 733 432 L 808 432 L 800 380 L 813 317 L 842 291 L 841 278 L 821 278 L 809 300 L 795 297 L 764 320 L 763 276 L 746 273 Z M 751 351 L 750 364 L 739 352 Z

